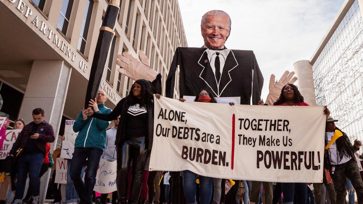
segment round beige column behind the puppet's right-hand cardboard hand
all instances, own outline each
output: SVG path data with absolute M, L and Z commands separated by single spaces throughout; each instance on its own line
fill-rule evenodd
M 313 66 L 309 60 L 301 60 L 294 63 L 295 76 L 299 79 L 295 84 L 299 87 L 304 101 L 310 106 L 316 106 Z

